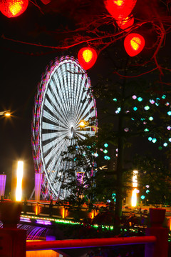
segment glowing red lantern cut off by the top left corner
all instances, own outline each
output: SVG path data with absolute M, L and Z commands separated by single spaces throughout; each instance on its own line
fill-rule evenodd
M 1 0 L 0 11 L 8 18 L 19 16 L 26 11 L 28 0 Z

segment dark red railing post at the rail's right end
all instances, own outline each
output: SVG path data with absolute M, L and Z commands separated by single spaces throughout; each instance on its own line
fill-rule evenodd
M 150 227 L 146 228 L 146 236 L 156 236 L 157 241 L 146 243 L 145 257 L 167 257 L 168 256 L 168 228 L 163 228 L 165 221 L 165 209 L 150 208 Z

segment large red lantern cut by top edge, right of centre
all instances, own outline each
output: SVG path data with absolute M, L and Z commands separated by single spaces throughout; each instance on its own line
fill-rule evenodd
M 105 0 L 105 8 L 115 20 L 126 19 L 133 11 L 137 0 Z

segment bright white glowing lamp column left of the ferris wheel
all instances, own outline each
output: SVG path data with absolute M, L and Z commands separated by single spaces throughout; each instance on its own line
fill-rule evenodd
M 21 201 L 23 166 L 24 166 L 24 162 L 18 161 L 18 167 L 17 167 L 17 171 L 16 171 L 16 201 Z

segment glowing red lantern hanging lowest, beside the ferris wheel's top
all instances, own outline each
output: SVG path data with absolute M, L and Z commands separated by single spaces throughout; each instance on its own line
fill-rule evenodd
M 95 49 L 91 47 L 83 47 L 78 51 L 78 61 L 83 69 L 90 69 L 97 60 L 97 53 Z

